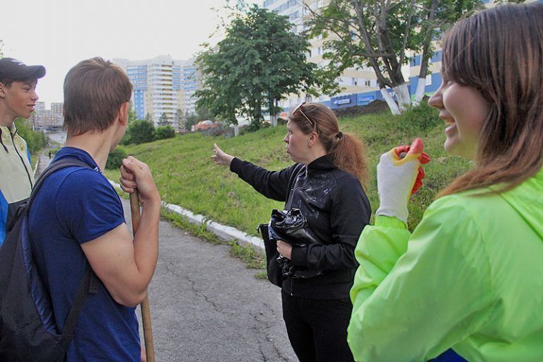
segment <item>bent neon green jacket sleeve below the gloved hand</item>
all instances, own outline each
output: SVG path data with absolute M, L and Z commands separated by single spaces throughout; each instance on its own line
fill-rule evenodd
M 378 216 L 356 247 L 348 342 L 356 361 L 428 361 L 489 319 L 490 264 L 455 196 L 434 202 L 410 235 Z

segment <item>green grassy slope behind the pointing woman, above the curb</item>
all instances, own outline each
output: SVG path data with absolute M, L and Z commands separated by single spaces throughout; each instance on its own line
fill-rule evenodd
M 420 118 L 426 119 L 423 122 L 426 126 L 421 126 Z M 425 150 L 433 161 L 425 168 L 425 186 L 409 205 L 411 228 L 420 221 L 436 192 L 469 167 L 465 160 L 446 156 L 443 122 L 431 110 L 411 112 L 404 117 L 392 117 L 385 112 L 342 118 L 339 123 L 341 131 L 356 134 L 366 142 L 371 173 L 368 197 L 373 211 L 378 206 L 375 185 L 378 156 L 398 144 L 409 144 L 415 136 L 424 139 Z M 125 149 L 150 165 L 164 201 L 255 234 L 255 227 L 269 220 L 271 209 L 281 209 L 283 204 L 262 197 L 228 168 L 214 165 L 209 157 L 216 142 L 233 156 L 269 170 L 279 170 L 291 164 L 282 141 L 284 134 L 285 128 L 281 126 L 233 139 L 185 134 Z M 112 180 L 119 178 L 118 171 L 107 171 L 106 174 Z

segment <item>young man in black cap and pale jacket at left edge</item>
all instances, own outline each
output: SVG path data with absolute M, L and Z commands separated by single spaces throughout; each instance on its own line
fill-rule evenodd
M 13 122 L 18 117 L 29 118 L 34 111 L 36 83 L 42 76 L 43 66 L 0 59 L 0 245 L 6 238 L 8 220 L 34 185 L 30 153 Z

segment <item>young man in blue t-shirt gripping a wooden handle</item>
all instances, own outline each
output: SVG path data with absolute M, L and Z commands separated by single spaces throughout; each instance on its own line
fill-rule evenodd
M 87 262 L 100 279 L 78 320 L 67 360 L 140 361 L 134 312 L 147 293 L 158 258 L 160 195 L 147 165 L 123 160 L 121 184 L 138 189 L 143 213 L 134 238 L 121 201 L 102 175 L 107 156 L 122 138 L 132 93 L 124 71 L 93 58 L 64 79 L 65 147 L 52 162 L 76 158 L 89 168 L 69 167 L 45 181 L 28 221 L 35 262 L 52 298 L 59 332 L 83 279 Z

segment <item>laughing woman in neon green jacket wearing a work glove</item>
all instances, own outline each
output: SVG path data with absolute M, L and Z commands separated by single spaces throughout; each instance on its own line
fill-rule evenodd
M 356 247 L 356 361 L 543 361 L 543 4 L 503 5 L 443 39 L 429 103 L 445 149 L 474 160 L 411 234 L 422 145 L 378 165 L 375 226 Z M 462 359 L 464 358 L 464 359 Z

